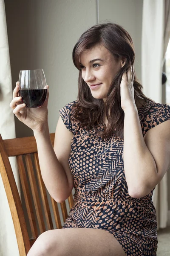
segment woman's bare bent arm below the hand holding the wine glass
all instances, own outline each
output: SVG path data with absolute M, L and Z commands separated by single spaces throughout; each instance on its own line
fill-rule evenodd
M 51 197 L 61 203 L 69 197 L 74 186 L 68 165 L 73 134 L 59 117 L 54 148 L 51 144 L 48 124 L 44 125 L 42 131 L 34 132 L 34 137 L 37 142 L 42 179 Z

